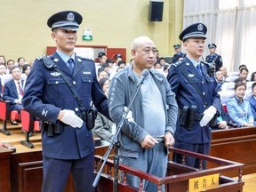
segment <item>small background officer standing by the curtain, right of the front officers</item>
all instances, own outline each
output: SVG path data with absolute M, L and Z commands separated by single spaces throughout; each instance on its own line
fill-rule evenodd
M 219 54 L 216 54 L 216 44 L 208 44 L 210 54 L 206 56 L 205 61 L 212 63 L 215 66 L 215 71 L 218 71 L 222 67 L 222 58 Z

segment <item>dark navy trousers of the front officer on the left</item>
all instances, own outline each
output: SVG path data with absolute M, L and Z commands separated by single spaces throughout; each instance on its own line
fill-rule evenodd
M 63 192 L 68 174 L 72 173 L 76 192 L 92 192 L 94 153 L 77 160 L 43 157 L 44 180 L 42 192 Z

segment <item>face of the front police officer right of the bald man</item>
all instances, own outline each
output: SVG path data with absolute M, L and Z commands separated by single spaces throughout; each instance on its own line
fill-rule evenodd
M 187 50 L 188 57 L 195 60 L 199 60 L 204 53 L 204 38 L 188 38 L 183 45 Z

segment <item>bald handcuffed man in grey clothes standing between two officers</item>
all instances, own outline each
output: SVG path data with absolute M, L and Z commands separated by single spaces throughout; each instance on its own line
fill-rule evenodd
M 134 63 L 116 74 L 109 87 L 110 116 L 119 124 L 133 92 L 140 87 L 138 82 L 144 78 L 132 103 L 132 113 L 124 121 L 119 135 L 120 160 L 122 164 L 142 172 L 164 177 L 167 168 L 166 148 L 174 144 L 178 113 L 175 95 L 166 78 L 151 70 L 156 62 L 156 45 L 148 36 L 139 36 L 133 40 L 132 58 Z M 127 174 L 127 182 L 136 188 L 140 186 L 140 180 L 130 174 Z M 143 188 L 145 191 L 157 191 L 156 184 L 147 180 L 143 181 Z

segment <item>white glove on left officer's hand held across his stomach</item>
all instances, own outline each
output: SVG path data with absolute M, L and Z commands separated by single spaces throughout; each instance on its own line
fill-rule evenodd
M 64 112 L 64 115 L 60 119 L 61 122 L 63 122 L 64 124 L 68 124 L 74 128 L 82 127 L 82 125 L 84 124 L 84 121 L 79 116 L 76 116 L 74 111 L 65 109 L 63 110 L 63 112 Z

